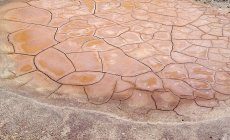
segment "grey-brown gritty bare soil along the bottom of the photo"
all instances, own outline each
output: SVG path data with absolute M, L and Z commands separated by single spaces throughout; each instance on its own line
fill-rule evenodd
M 0 103 L 1 140 L 230 138 L 230 117 L 193 123 L 142 123 L 98 111 L 53 106 L 2 89 Z

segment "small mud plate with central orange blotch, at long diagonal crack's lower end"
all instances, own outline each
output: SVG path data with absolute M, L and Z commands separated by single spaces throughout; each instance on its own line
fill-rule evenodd
M 156 74 L 149 72 L 137 76 L 136 88 L 148 91 L 163 89 L 162 80 Z

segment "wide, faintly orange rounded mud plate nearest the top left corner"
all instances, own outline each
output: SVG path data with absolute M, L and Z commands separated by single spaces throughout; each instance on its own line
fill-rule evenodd
M 47 25 L 51 20 L 51 13 L 44 9 L 28 6 L 10 10 L 4 18 L 13 21 Z

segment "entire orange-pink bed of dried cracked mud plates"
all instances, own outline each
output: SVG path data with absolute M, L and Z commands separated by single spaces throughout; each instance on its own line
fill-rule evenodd
M 0 51 L 14 64 L 1 86 L 178 115 L 230 98 L 228 12 L 189 0 L 31 0 L 1 9 Z

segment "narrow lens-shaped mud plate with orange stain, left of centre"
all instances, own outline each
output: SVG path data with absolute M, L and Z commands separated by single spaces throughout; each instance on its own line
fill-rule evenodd
M 74 72 L 61 78 L 59 82 L 65 85 L 92 85 L 99 82 L 103 76 L 100 72 Z

